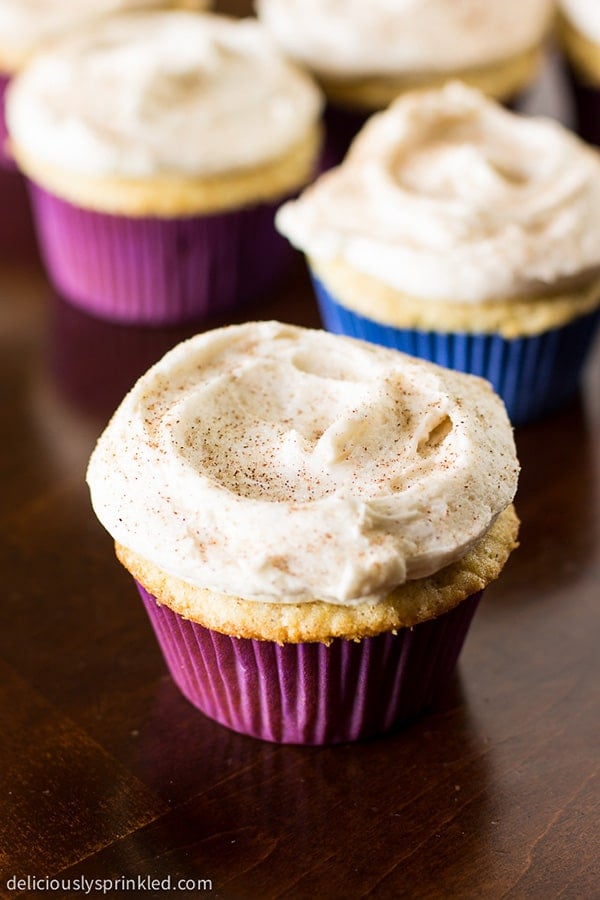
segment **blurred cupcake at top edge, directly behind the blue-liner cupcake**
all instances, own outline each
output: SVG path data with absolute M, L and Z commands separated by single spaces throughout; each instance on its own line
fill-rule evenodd
M 329 101 L 324 167 L 398 94 L 460 79 L 512 104 L 534 83 L 553 0 L 256 0 Z

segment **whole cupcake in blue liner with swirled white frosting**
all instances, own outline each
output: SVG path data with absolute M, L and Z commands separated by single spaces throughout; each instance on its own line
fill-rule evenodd
M 459 83 L 374 116 L 279 212 L 325 326 L 483 376 L 514 424 L 577 390 L 600 308 L 600 158 Z

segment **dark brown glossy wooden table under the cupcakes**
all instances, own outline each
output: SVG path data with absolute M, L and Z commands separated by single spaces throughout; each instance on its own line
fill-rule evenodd
M 600 896 L 600 346 L 581 395 L 517 432 L 521 548 L 431 713 L 262 743 L 179 695 L 84 484 L 125 390 L 191 332 L 69 307 L 2 191 L 0 896 Z M 318 324 L 300 260 L 250 315 Z

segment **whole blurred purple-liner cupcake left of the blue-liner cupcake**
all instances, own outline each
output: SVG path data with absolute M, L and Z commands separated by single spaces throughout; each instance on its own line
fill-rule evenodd
M 312 176 L 320 108 L 250 19 L 115 16 L 37 56 L 7 114 L 56 290 L 150 325 L 269 290 L 292 258 L 274 211 Z

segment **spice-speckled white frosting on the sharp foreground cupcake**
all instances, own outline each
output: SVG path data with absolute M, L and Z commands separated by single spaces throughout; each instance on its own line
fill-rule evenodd
M 482 379 L 277 322 L 198 335 L 150 369 L 92 454 L 113 537 L 186 582 L 352 604 L 461 558 L 518 464 Z

